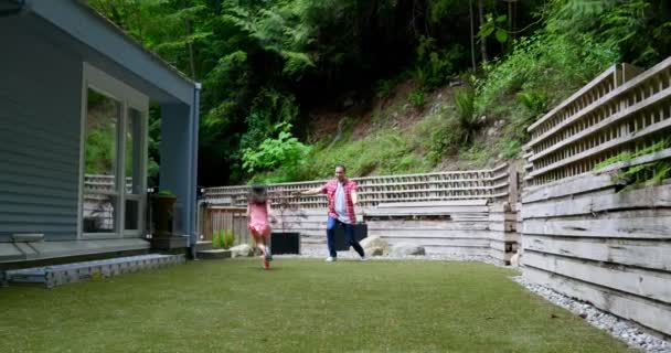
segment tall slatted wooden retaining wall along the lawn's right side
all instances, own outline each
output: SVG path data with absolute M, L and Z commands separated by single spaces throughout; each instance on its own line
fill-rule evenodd
M 530 128 L 521 261 L 532 281 L 671 334 L 671 181 L 618 178 L 671 149 L 595 170 L 671 136 L 671 58 L 637 72 L 614 66 Z

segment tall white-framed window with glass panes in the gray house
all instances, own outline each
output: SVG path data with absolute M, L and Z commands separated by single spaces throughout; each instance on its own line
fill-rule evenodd
M 81 237 L 140 236 L 147 96 L 84 64 Z

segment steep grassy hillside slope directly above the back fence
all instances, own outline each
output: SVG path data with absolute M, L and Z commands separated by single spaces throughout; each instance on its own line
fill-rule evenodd
M 318 175 L 330 175 L 336 163 L 348 165 L 350 175 L 365 176 L 481 168 L 504 159 L 492 149 L 496 130 L 487 128 L 503 120 L 476 117 L 473 136 L 465 140 L 455 90 L 466 88 L 460 81 L 451 86 L 424 93 L 406 81 L 360 104 L 369 109 L 345 97 L 342 109 L 312 111 L 307 140 Z

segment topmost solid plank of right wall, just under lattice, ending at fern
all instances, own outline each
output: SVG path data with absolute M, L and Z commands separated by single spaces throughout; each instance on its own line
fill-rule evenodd
M 585 193 L 588 191 L 606 189 L 613 186 L 613 178 L 610 174 L 583 174 L 573 178 L 562 179 L 555 183 L 546 184 L 522 195 L 522 203 L 544 201 L 561 196 Z

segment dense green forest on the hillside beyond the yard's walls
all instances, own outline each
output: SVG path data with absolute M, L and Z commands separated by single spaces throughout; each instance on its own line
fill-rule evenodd
M 667 0 L 88 3 L 203 84 L 205 186 L 512 159 L 529 125 L 604 69 L 671 55 Z M 152 178 L 159 127 L 152 107 Z

